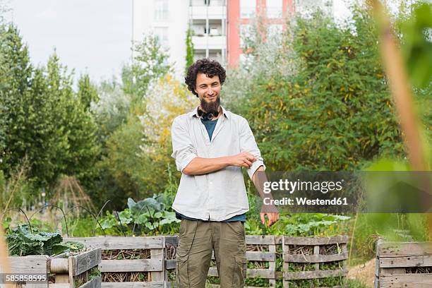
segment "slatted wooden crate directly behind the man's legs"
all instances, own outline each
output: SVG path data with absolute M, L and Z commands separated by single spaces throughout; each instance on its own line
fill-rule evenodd
M 172 251 L 172 247 L 176 247 L 178 244 L 178 237 L 167 236 L 165 243 L 167 244 L 167 251 Z M 276 246 L 278 244 L 282 244 L 282 236 L 246 235 L 246 259 L 248 261 L 268 263 L 268 268 L 247 269 L 246 277 L 268 279 L 270 287 L 276 287 L 276 279 L 282 276 L 276 272 Z M 215 260 L 214 254 L 212 255 L 212 260 Z M 169 253 L 166 268 L 167 270 L 171 270 L 168 273 L 174 273 L 176 260 L 172 257 L 172 253 Z M 217 277 L 217 268 L 210 267 L 208 276 Z M 166 279 L 169 279 L 169 277 Z M 212 285 L 212 287 L 219 287 L 219 285 Z

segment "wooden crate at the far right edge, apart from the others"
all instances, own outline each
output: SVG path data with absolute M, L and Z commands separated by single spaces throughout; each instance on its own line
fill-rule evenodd
M 376 243 L 375 287 L 432 287 L 432 242 Z

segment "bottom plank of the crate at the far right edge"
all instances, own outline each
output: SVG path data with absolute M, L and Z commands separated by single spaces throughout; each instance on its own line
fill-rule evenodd
M 430 288 L 432 274 L 380 275 L 380 288 Z

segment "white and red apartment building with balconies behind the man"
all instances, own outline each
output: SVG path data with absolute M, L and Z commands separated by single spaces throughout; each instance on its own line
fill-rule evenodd
M 244 58 L 241 35 L 253 18 L 261 18 L 271 33 L 282 33 L 284 18 L 296 10 L 319 7 L 332 11 L 333 0 L 132 0 L 133 42 L 145 32 L 169 49 L 176 76 L 183 77 L 186 32 L 193 31 L 194 59 L 210 58 L 237 66 Z

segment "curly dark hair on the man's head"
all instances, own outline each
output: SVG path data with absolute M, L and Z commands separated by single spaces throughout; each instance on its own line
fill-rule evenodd
M 194 64 L 189 66 L 188 73 L 184 78 L 184 83 L 188 85 L 188 90 L 190 90 L 193 95 L 196 95 L 196 97 L 198 97 L 198 94 L 195 92 L 196 76 L 198 73 L 205 73 L 205 75 L 210 78 L 215 75 L 219 76 L 220 85 L 224 84 L 225 78 L 227 77 L 225 69 L 219 62 L 207 58 L 197 60 Z

